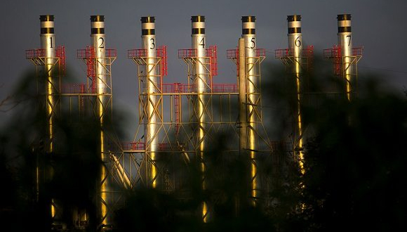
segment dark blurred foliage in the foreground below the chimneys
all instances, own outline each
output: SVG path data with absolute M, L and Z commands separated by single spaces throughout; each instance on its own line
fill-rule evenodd
M 227 151 L 235 143 L 230 141 L 233 136 L 214 135 L 204 160 L 185 164 L 181 157 L 172 157 L 173 153 L 161 155 L 159 162 L 173 165 L 169 170 L 172 174 L 184 175 L 182 188 L 162 191 L 140 186 L 124 191 L 126 204 L 114 212 L 115 230 L 405 230 L 405 94 L 383 89 L 379 77 L 366 75 L 359 77 L 359 96 L 349 103 L 338 94 L 343 82 L 332 77 L 330 64 L 316 58 L 314 67 L 323 68 L 309 72 L 303 82 L 305 175 L 300 175 L 283 148 L 273 155 L 260 155 L 264 188 L 258 206 L 253 207 L 248 198 L 249 158 Z M 269 115 L 265 124 L 272 138 L 284 141 L 294 122 L 295 82 L 282 65 L 268 65 L 263 73 L 263 80 L 267 79 L 262 86 L 263 111 Z M 73 212 L 86 210 L 90 219 L 82 231 L 95 231 L 100 125 L 93 117 L 79 120 L 62 112 L 65 117 L 56 122 L 58 149 L 47 154 L 41 140 L 46 117 L 34 86 L 34 75 L 22 79 L 13 94 L 19 103 L 15 116 L 0 132 L 2 231 L 50 231 L 51 199 L 63 209 L 60 221 L 67 230 L 76 230 Z M 114 114 L 115 119 L 118 115 L 123 114 Z M 114 124 L 108 129 L 121 127 Z M 121 131 L 114 134 L 121 135 Z M 205 190 L 201 188 L 203 161 L 207 170 Z M 39 198 L 37 166 L 41 167 Z M 200 213 L 204 201 L 211 212 L 205 224 Z

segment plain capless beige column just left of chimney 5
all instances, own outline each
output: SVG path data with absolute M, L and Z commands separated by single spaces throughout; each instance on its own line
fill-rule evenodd
M 243 38 L 239 38 L 239 153 L 246 154 L 247 149 L 247 117 L 246 117 L 246 47 Z

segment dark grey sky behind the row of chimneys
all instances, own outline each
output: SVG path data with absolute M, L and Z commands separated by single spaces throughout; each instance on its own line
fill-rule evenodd
M 258 48 L 268 51 L 286 48 L 286 15 L 302 15 L 305 44 L 314 52 L 337 43 L 337 20 L 340 13 L 352 14 L 354 46 L 364 46 L 359 74 L 382 72 L 389 84 L 407 86 L 407 1 L 405 0 L 161 0 L 161 1 L 8 1 L 0 3 L 0 100 L 10 93 L 22 72 L 34 69 L 25 60 L 25 49 L 39 48 L 39 15 L 55 15 L 55 40 L 64 45 L 67 66 L 76 79 L 85 80 L 85 66 L 76 59 L 76 49 L 90 44 L 90 15 L 105 15 L 107 48 L 117 49 L 112 66 L 114 107 L 126 108 L 132 123 L 126 131 L 133 134 L 137 126 L 136 69 L 126 58 L 127 50 L 140 48 L 140 17 L 156 16 L 156 40 L 168 46 L 168 76 L 164 82 L 187 82 L 185 65 L 177 50 L 191 46 L 191 15 L 206 16 L 207 45 L 218 45 L 219 75 L 214 82 L 234 82 L 235 67 L 226 58 L 241 36 L 241 16 L 255 15 Z M 405 55 L 403 55 L 405 54 Z M 276 62 L 267 53 L 265 62 Z M 390 70 L 390 71 L 386 71 Z M 0 126 L 6 113 L 0 112 Z

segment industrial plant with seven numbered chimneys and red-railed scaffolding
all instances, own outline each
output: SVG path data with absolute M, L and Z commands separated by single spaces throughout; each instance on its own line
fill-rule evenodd
M 91 16 L 91 45 L 77 51 L 87 72 L 86 82 L 81 84 L 61 83 L 60 77 L 65 73 L 65 48 L 55 44 L 53 15 L 40 16 L 41 48 L 27 50 L 26 58 L 39 71 L 39 94 L 44 96 L 42 104 L 47 117 L 44 125 L 46 153 L 58 153 L 54 145 L 58 141 L 54 121 L 56 117 L 63 117 L 62 111 L 74 112 L 76 108 L 79 117 L 93 115 L 98 119 L 98 153 L 102 160 L 98 180 L 98 223 L 102 227 L 114 226 L 112 213 L 124 203 L 123 190 L 140 186 L 167 192 L 183 190 L 182 178 L 187 173 L 176 172 L 171 159 L 183 160 L 185 164 L 196 160 L 200 167 L 201 189 L 205 190 L 206 153 L 211 150 L 214 135 L 222 131 L 229 132 L 234 141 L 228 152 L 248 157 L 248 201 L 253 206 L 258 205 L 259 200 L 267 199 L 267 189 L 273 181 L 271 176 L 261 172 L 260 157 L 271 158 L 277 149 L 284 148 L 298 163 L 302 174 L 305 172 L 305 125 L 301 108 L 306 89 L 303 79 L 312 65 L 314 50 L 312 46 L 303 46 L 301 16 L 288 16 L 288 49 L 275 53 L 276 58 L 289 67 L 297 91 L 293 133 L 287 141 L 271 141 L 262 123 L 260 71 L 266 50 L 257 48 L 255 16 L 241 18 L 242 34 L 239 40 L 236 39 L 237 49 L 227 50 L 227 58 L 236 64 L 237 70 L 236 82 L 230 84 L 213 82 L 213 77 L 218 75 L 218 50 L 216 46 L 207 46 L 205 17 L 196 15 L 191 20 L 191 47 L 178 50 L 178 58 L 187 66 L 187 82 L 164 83 L 163 77 L 168 74 L 166 46 L 159 46 L 156 41 L 155 18 L 141 18 L 141 48 L 127 53 L 137 66 L 138 129 L 133 141 L 126 143 L 119 141 L 108 129 L 114 120 L 111 66 L 116 50 L 107 49 L 104 16 Z M 356 65 L 362 49 L 352 49 L 350 15 L 338 15 L 338 29 L 339 45 L 325 50 L 324 54 L 333 60 L 335 74 L 345 81 L 344 93 L 351 101 L 356 94 Z M 284 146 L 286 143 L 290 146 Z M 163 159 L 164 156 L 171 159 Z M 51 172 L 49 175 L 52 178 Z M 37 179 L 37 186 L 38 182 Z M 58 219 L 58 202 L 51 200 L 49 203 L 51 217 Z M 212 207 L 212 202 L 201 203 L 199 211 L 203 221 L 211 219 Z M 78 226 L 86 224 L 87 214 L 78 212 Z

